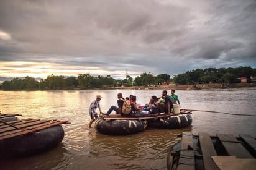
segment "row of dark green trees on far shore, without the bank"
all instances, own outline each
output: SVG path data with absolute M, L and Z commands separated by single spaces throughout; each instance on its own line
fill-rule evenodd
M 63 77 L 62 75 L 49 75 L 46 79 L 37 82 L 33 77 L 26 76 L 24 79 L 14 78 L 6 80 L 0 85 L 0 90 L 69 90 L 69 89 L 93 89 L 93 88 L 112 88 L 119 86 L 148 86 L 160 85 L 165 83 L 175 83 L 177 85 L 205 84 L 205 83 L 239 83 L 239 77 L 246 77 L 250 81 L 251 76 L 256 75 L 256 69 L 251 67 L 237 68 L 207 68 L 195 69 L 183 74 L 146 73 L 133 79 L 127 75 L 124 80 L 116 80 L 110 75 L 96 77 L 86 74 L 79 74 L 78 77 Z

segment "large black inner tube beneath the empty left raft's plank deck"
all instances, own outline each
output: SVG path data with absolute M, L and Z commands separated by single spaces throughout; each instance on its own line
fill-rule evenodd
M 0 157 L 16 158 L 49 150 L 62 142 L 64 130 L 61 125 L 48 127 L 29 134 L 0 140 Z

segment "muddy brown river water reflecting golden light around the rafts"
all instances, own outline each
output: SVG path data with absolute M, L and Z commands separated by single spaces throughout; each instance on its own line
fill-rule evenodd
M 152 95 L 162 95 L 162 90 L 0 91 L 2 114 L 71 122 L 63 124 L 65 137 L 57 147 L 38 155 L 0 160 L 0 169 L 167 169 L 168 150 L 180 140 L 177 135 L 183 131 L 256 136 L 254 116 L 201 111 L 193 111 L 193 123 L 184 129 L 147 128 L 126 136 L 102 135 L 89 129 L 91 101 L 98 94 L 103 96 L 101 109 L 106 112 L 111 105 L 117 105 L 119 92 L 124 97 L 136 95 L 140 104 L 149 102 Z M 256 88 L 176 90 L 176 95 L 182 109 L 256 116 Z

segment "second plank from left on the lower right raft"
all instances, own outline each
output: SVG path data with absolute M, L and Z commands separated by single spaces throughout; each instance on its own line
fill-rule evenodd
M 208 133 L 199 133 L 199 142 L 202 150 L 204 169 L 218 169 L 211 156 L 217 156 L 213 142 Z

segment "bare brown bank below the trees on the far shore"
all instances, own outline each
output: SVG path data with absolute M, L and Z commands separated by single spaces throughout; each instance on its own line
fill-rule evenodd
M 133 86 L 133 87 L 114 87 L 111 89 L 130 89 L 130 90 L 171 90 L 171 89 L 177 89 L 177 90 L 201 90 L 201 89 L 219 89 L 221 88 L 222 84 L 197 84 L 197 85 L 153 85 L 149 87 L 144 86 Z M 225 85 L 225 88 L 250 88 L 250 87 L 256 87 L 256 84 L 253 83 L 235 83 L 235 84 L 229 84 L 228 86 Z

